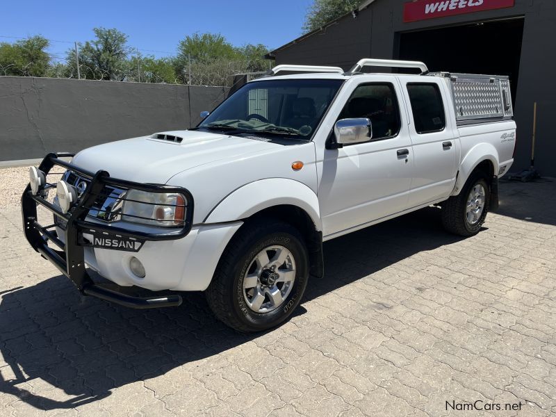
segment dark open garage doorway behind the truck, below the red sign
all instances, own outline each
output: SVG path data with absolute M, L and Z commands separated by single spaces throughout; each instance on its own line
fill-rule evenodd
M 399 58 L 421 60 L 431 72 L 508 75 L 515 104 L 523 22 L 520 17 L 400 33 Z

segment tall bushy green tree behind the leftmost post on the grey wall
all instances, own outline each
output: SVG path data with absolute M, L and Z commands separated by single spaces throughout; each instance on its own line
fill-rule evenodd
M 127 35 L 117 29 L 94 28 L 95 40 L 79 44 L 81 78 L 125 81 L 132 71 Z M 67 76 L 77 76 L 75 51 L 67 52 Z

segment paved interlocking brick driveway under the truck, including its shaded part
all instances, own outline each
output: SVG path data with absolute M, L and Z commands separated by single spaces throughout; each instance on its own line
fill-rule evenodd
M 501 192 L 473 238 L 427 208 L 327 243 L 297 316 L 256 336 L 201 294 L 81 298 L 0 208 L 0 415 L 556 414 L 556 182 Z M 476 400 L 502 411 L 446 410 Z

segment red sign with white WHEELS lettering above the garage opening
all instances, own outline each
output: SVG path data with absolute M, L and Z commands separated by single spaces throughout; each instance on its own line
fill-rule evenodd
M 404 22 L 514 7 L 514 0 L 417 0 L 405 3 Z

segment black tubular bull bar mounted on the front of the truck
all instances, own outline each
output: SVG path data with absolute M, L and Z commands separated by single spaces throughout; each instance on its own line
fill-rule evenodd
M 28 243 L 30 243 L 33 249 L 39 252 L 45 259 L 54 263 L 56 268 L 66 277 L 70 278 L 83 295 L 91 295 L 134 309 L 179 306 L 179 304 L 181 304 L 181 295 L 172 294 L 158 297 L 133 297 L 113 291 L 101 284 L 95 284 L 88 275 L 87 270 L 85 270 L 84 247 L 90 245 L 84 244 L 83 231 L 86 231 L 86 233 L 99 232 L 105 235 L 107 234 L 107 236 L 125 236 L 126 238 L 133 238 L 143 242 L 145 240 L 173 240 L 182 238 L 189 233 L 193 222 L 193 197 L 191 193 L 189 193 L 186 188 L 115 179 L 110 177 L 110 174 L 106 171 L 99 170 L 97 172 L 89 172 L 88 170 L 83 170 L 80 167 L 72 165 L 72 163 L 67 163 L 60 159 L 71 156 L 74 156 L 74 154 L 48 154 L 44 157 L 38 169 L 44 172 L 46 178 L 51 168 L 54 167 L 54 165 L 59 165 L 65 167 L 67 170 L 72 170 L 72 172 L 79 174 L 90 182 L 76 204 L 74 204 L 67 213 L 63 213 L 58 206 L 48 202 L 46 199 L 47 190 L 55 188 L 56 184 L 45 181 L 46 183 L 42 186 L 42 189 L 39 190 L 37 195 L 33 195 L 31 192 L 31 185 L 29 184 L 22 195 L 23 229 Z M 148 193 L 179 193 L 183 195 L 186 199 L 186 215 L 183 227 L 179 229 L 172 228 L 169 231 L 161 231 L 161 233 L 153 234 L 143 231 L 130 231 L 129 229 L 117 227 L 117 222 L 102 224 L 86 221 L 85 218 L 89 210 L 93 207 L 97 196 L 102 193 L 105 186 L 113 186 L 124 190 L 140 190 Z M 47 210 L 54 213 L 57 218 L 62 219 L 63 222 L 66 223 L 63 240 L 60 240 L 56 233 L 56 224 L 42 226 L 38 222 L 38 204 L 47 208 Z M 56 245 L 58 249 L 56 250 L 49 247 L 49 242 Z

